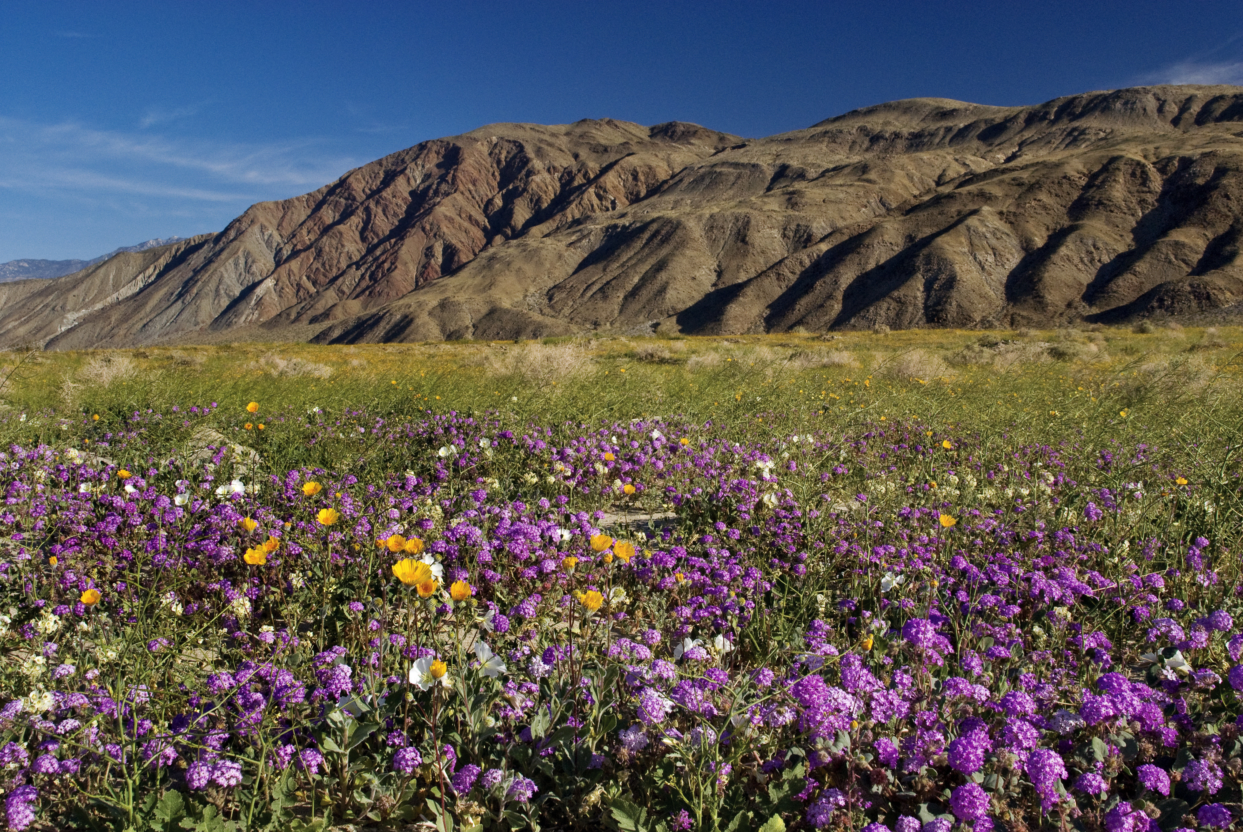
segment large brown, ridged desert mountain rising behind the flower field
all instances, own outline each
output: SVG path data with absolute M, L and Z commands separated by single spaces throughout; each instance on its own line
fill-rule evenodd
M 919 98 L 741 139 L 493 124 L 0 286 L 50 348 L 1053 325 L 1243 302 L 1243 88 Z

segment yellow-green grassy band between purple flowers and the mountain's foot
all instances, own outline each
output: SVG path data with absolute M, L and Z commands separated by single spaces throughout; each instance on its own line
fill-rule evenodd
M 689 419 L 970 420 L 1068 430 L 1144 422 L 1227 429 L 1243 328 L 917 330 L 727 338 L 548 338 L 428 344 L 229 344 L 0 356 L 27 418 L 261 397 L 305 412 L 484 413 L 547 423 Z M 1124 414 L 1125 412 L 1125 414 Z M 29 435 L 29 423 L 9 430 Z M 58 430 L 51 423 L 37 425 Z M 257 428 L 252 428 L 257 429 Z M 266 429 L 266 425 L 265 425 Z

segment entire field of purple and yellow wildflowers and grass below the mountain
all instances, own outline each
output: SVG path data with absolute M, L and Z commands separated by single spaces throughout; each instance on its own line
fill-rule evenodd
M 5 353 L 7 827 L 1232 827 L 1241 353 Z

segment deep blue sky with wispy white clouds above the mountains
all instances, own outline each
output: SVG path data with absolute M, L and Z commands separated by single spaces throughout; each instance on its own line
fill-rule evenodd
M 5 0 L 0 17 L 0 262 L 216 231 L 490 122 L 755 137 L 916 96 L 1243 83 L 1238 0 Z

